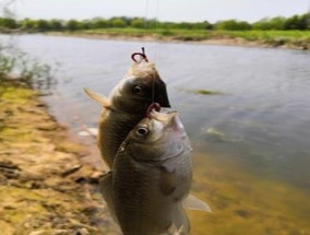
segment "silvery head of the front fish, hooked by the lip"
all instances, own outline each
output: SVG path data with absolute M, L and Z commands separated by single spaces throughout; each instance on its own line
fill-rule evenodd
M 129 133 L 126 149 L 138 162 L 162 164 L 190 151 L 188 136 L 176 111 L 152 111 Z

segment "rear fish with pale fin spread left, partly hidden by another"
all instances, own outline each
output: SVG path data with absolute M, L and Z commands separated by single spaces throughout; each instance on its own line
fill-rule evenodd
M 132 128 L 141 121 L 152 103 L 170 107 L 166 83 L 153 62 L 134 62 L 109 96 L 84 89 L 104 108 L 98 121 L 97 145 L 109 168 L 118 148 Z

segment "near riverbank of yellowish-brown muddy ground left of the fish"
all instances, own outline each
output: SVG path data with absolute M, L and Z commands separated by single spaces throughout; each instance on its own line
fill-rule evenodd
M 102 172 L 68 139 L 39 93 L 0 86 L 0 227 L 3 235 L 115 234 L 100 195 Z

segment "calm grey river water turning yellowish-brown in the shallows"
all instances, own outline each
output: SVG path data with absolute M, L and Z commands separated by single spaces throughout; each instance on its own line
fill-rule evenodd
M 96 127 L 100 111 L 83 87 L 108 94 L 131 54 L 144 46 L 194 149 L 192 191 L 213 209 L 190 212 L 193 234 L 310 234 L 309 51 L 43 35 L 13 39 L 57 66 L 57 85 L 44 99 L 76 134 L 83 125 Z

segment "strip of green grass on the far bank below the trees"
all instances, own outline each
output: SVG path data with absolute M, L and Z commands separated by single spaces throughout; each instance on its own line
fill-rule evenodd
M 88 30 L 70 33 L 73 35 L 88 36 L 124 36 L 146 37 L 151 36 L 159 40 L 201 42 L 207 39 L 231 43 L 258 43 L 272 47 L 288 46 L 310 48 L 310 31 L 203 31 L 203 30 L 144 30 L 144 28 L 105 28 Z

